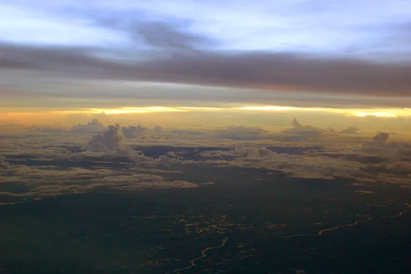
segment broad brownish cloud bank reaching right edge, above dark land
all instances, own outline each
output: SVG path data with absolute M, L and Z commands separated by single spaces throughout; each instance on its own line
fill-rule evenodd
M 297 128 L 305 127 L 298 121 L 293 125 Z M 385 134 L 378 136 L 377 139 L 386 140 Z M 324 142 L 327 143 L 327 140 Z M 206 162 L 221 166 L 269 169 L 287 173 L 292 177 L 347 178 L 360 182 L 410 184 L 410 143 L 386 140 L 366 142 L 362 147 L 350 145 L 349 142 L 342 141 L 338 145 L 328 144 L 321 148 L 301 150 L 301 153 L 297 154 L 275 152 L 269 147 L 258 145 L 238 145 L 228 151 L 203 151 L 200 154 L 209 159 Z

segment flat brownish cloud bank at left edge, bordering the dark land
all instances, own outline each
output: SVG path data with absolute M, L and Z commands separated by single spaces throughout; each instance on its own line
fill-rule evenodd
M 148 174 L 144 169 L 137 171 L 114 171 L 113 169 L 56 169 L 54 166 L 14 166 L 13 176 L 1 177 L 1 182 L 18 186 L 6 192 L 0 192 L 0 197 L 12 197 L 21 201 L 27 197 L 45 197 L 73 193 L 83 193 L 90 190 L 110 188 L 124 191 L 145 190 L 149 188 L 197 188 L 184 180 L 167 180 L 157 174 Z M 166 171 L 164 171 L 166 173 Z M 20 188 L 23 186 L 23 192 Z

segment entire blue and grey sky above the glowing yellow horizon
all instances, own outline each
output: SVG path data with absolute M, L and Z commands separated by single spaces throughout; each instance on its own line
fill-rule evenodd
M 0 18 L 0 121 L 411 116 L 408 0 L 2 0 Z

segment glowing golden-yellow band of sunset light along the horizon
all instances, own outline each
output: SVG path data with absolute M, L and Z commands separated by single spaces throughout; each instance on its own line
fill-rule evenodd
M 105 123 L 112 123 L 111 121 L 117 121 L 116 119 L 130 119 L 130 121 L 133 119 L 141 119 L 141 121 L 144 120 L 145 123 L 159 124 L 162 123 L 164 119 L 167 119 L 169 122 L 173 120 L 174 123 L 184 123 L 184 125 L 193 126 L 199 124 L 204 125 L 206 123 L 211 123 L 214 125 L 217 119 L 219 120 L 218 123 L 256 124 L 256 121 L 253 119 L 247 120 L 246 118 L 249 114 L 255 114 L 258 115 L 258 117 L 261 117 L 261 122 L 263 122 L 264 119 L 279 119 L 279 117 L 282 117 L 282 119 L 284 119 L 284 117 L 287 117 L 287 119 L 292 119 L 295 116 L 311 116 L 313 117 L 313 120 L 310 123 L 315 123 L 314 121 L 316 121 L 317 124 L 320 123 L 321 125 L 325 125 L 325 123 L 328 122 L 321 122 L 315 117 L 329 116 L 334 117 L 334 120 L 345 118 L 350 119 L 350 117 L 356 119 L 356 117 L 358 117 L 358 121 L 360 121 L 360 119 L 364 120 L 366 117 L 378 117 L 387 120 L 388 123 L 388 119 L 395 119 L 397 117 L 411 117 L 411 108 L 339 109 L 298 108 L 279 105 L 225 105 L 221 107 L 151 105 L 141 107 L 127 106 L 122 108 L 73 108 L 71 110 L 21 108 L 18 111 L 11 111 L 10 108 L 6 108 L 5 110 L 0 110 L 0 114 L 0 124 L 18 123 L 20 125 L 55 125 L 58 127 L 68 128 L 76 123 L 86 123 L 91 119 L 91 117 L 95 117 L 100 114 L 106 115 L 103 116 L 107 119 Z M 141 115 L 140 118 L 138 118 L 139 115 Z M 67 120 L 67 117 L 69 117 L 69 120 Z M 201 119 L 199 119 L 199 117 L 201 117 Z M 216 117 L 224 117 L 224 119 L 219 119 Z M 102 118 L 100 117 L 99 119 Z M 337 125 L 338 123 L 343 122 L 333 121 L 332 123 Z M 344 125 L 340 125 L 340 127 L 347 126 L 347 123 L 354 124 L 355 121 L 344 122 Z M 379 121 L 379 123 L 382 123 L 382 120 Z M 362 128 L 366 127 L 365 125 L 360 126 Z M 397 126 L 397 124 L 396 127 L 399 129 L 403 128 L 402 125 Z

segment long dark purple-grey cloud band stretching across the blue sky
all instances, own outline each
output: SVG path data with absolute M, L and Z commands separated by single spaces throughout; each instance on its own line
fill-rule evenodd
M 147 31 L 150 32 L 150 31 Z M 162 45 L 163 42 L 154 42 Z M 172 43 L 172 42 L 168 42 Z M 185 47 L 175 45 L 175 47 Z M 195 84 L 286 92 L 408 97 L 411 64 L 266 51 L 198 51 L 148 60 L 114 58 L 110 49 L 0 44 L 1 69 L 60 73 L 77 79 Z M 136 55 L 136 52 L 130 53 Z M 10 65 L 12 64 L 12 65 Z M 321 75 L 321 77 L 320 77 Z M 18 79 L 14 79 L 14 84 Z

